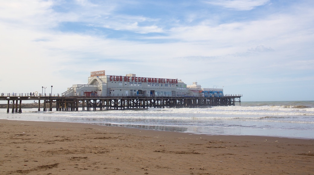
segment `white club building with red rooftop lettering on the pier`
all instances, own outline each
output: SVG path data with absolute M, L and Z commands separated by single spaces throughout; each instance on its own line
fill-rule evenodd
M 178 79 L 136 77 L 135 74 L 114 76 L 105 75 L 105 71 L 96 71 L 90 72 L 87 84 L 73 85 L 62 96 L 204 96 L 201 86 L 194 83 L 195 87 L 188 88 L 187 84 Z M 203 92 L 199 92 L 201 90 Z

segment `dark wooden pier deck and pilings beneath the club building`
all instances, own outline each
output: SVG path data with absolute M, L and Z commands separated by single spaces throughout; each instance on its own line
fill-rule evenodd
M 12 102 L 12 113 L 22 112 L 22 100 L 38 101 L 38 111 L 96 111 L 96 110 L 123 110 L 123 109 L 145 109 L 145 108 L 192 108 L 206 106 L 235 106 L 236 102 L 241 105 L 242 95 L 225 95 L 223 97 L 60 97 L 60 96 L 4 96 L 0 100 L 7 100 L 7 112 L 10 112 L 10 101 Z

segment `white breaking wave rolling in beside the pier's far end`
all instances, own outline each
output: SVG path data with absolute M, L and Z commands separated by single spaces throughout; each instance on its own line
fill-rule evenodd
M 314 108 L 286 108 L 283 106 L 219 106 L 211 108 L 148 108 L 143 110 L 97 110 L 97 111 L 37 111 L 38 109 L 24 110 L 23 113 L 41 113 L 42 115 L 57 113 L 59 115 L 264 115 L 264 116 L 313 116 Z M 4 111 L 3 111 L 4 112 Z

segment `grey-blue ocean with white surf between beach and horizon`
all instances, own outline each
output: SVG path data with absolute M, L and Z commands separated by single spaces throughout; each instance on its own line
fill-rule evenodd
M 56 109 L 54 109 L 56 110 Z M 314 139 L 314 101 L 241 102 L 236 106 L 103 111 L 22 109 L 0 119 L 77 122 L 206 135 L 259 135 Z

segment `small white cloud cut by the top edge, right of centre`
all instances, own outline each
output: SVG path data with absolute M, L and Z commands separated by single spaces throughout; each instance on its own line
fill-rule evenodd
M 252 10 L 269 3 L 270 0 L 210 0 L 207 4 L 220 6 L 232 10 Z

